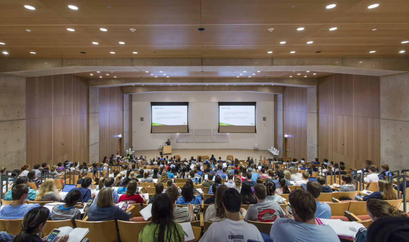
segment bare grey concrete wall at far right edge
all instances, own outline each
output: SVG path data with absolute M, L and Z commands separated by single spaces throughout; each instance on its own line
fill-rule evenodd
M 381 164 L 391 170 L 409 168 L 408 93 L 409 73 L 381 77 Z

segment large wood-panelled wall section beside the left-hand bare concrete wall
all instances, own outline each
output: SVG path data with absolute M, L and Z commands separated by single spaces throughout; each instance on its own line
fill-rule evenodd
M 88 161 L 87 79 L 53 75 L 26 81 L 27 164 Z

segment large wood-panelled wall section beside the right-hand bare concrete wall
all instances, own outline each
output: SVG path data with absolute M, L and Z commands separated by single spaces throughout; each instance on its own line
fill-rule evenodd
M 319 159 L 380 166 L 380 78 L 336 74 L 318 79 Z M 344 144 L 342 144 L 344 142 Z

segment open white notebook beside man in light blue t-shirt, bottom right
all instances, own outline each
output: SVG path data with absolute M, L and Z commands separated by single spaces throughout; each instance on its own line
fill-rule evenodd
M 331 226 L 339 238 L 355 240 L 355 235 L 360 228 L 365 228 L 363 224 L 357 222 L 345 222 L 336 219 L 316 218 L 318 224 Z

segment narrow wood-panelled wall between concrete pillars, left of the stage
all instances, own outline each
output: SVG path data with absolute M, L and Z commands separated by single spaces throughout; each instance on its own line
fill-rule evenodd
M 99 88 L 99 160 L 117 154 L 118 134 L 124 133 L 122 87 Z M 123 139 L 123 138 L 122 138 Z

